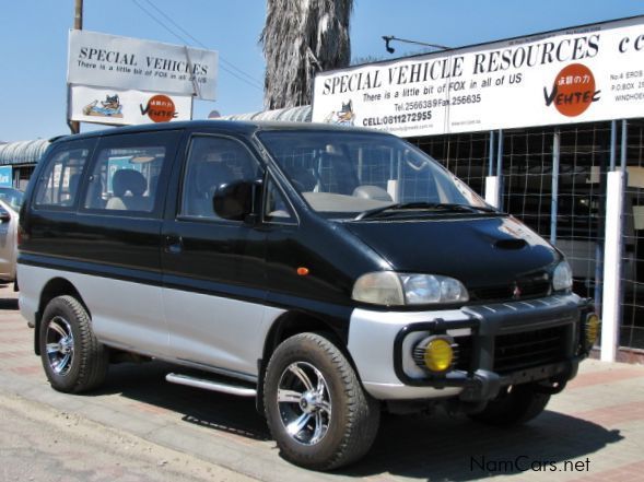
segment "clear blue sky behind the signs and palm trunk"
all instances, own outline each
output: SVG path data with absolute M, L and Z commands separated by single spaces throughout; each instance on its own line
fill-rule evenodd
M 73 0 L 0 0 L 0 141 L 69 133 L 67 42 Z M 422 47 L 493 42 L 644 14 L 642 0 L 354 0 L 351 57 L 391 59 Z M 84 0 L 83 28 L 218 50 L 218 99 L 196 101 L 194 118 L 262 109 L 259 35 L 265 0 Z M 91 130 L 83 124 L 81 131 Z

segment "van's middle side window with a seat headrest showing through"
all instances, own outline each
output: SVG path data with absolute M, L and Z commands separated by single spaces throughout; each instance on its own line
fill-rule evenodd
M 107 138 L 94 156 L 84 208 L 105 213 L 151 213 L 161 174 L 174 154 L 174 138 L 176 132 Z

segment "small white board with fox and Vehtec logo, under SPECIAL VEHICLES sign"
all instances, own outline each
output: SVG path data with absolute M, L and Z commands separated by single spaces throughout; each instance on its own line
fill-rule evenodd
M 72 85 L 69 118 L 112 126 L 190 120 L 192 97 Z

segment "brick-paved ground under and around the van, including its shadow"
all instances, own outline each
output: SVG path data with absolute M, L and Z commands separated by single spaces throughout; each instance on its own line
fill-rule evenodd
M 84 454 L 103 439 L 115 458 L 92 465 L 87 469 L 93 470 L 92 480 L 127 473 L 128 478 L 116 478 L 159 481 L 176 472 L 175 480 L 639 481 L 644 472 L 644 366 L 587 361 L 541 416 L 513 431 L 445 414 L 385 416 L 366 459 L 340 472 L 319 474 L 279 457 L 253 401 L 166 384 L 168 367 L 161 363 L 117 365 L 101 391 L 91 395 L 58 393 L 49 388 L 39 358 L 33 355 L 32 336 L 16 313 L 15 295 L 1 289 L 0 403 L 8 409 L 0 412 L 0 422 L 10 430 L 0 432 L 0 465 L 15 461 L 3 469 L 3 480 L 39 480 L 30 472 L 30 450 L 45 452 L 54 463 L 68 454 Z M 32 418 L 36 407 L 40 415 Z M 51 426 L 48 419 L 56 425 L 66 416 L 73 423 L 63 426 L 70 435 L 60 452 L 46 439 L 34 448 L 25 443 L 28 437 L 21 437 L 30 424 Z M 150 449 L 126 454 L 128 440 Z M 169 455 L 160 460 L 147 450 L 169 450 Z M 119 457 L 122 463 L 115 467 Z M 154 470 L 145 472 L 145 467 Z

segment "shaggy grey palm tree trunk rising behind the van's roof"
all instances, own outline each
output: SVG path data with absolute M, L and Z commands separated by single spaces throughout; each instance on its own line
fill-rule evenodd
M 352 9 L 353 0 L 267 0 L 265 108 L 311 104 L 315 73 L 349 64 Z

